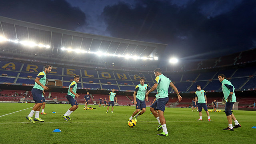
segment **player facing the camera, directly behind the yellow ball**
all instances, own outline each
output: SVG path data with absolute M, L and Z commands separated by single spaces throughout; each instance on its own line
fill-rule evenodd
M 144 84 L 145 78 L 140 78 L 140 84 L 135 87 L 133 98 L 135 104 L 135 111 L 133 112 L 132 116 L 129 118 L 131 120 L 134 117 L 135 122 L 137 122 L 137 117 L 142 115 L 146 112 L 146 102 L 145 102 L 145 95 L 148 92 L 148 85 Z M 136 95 L 137 94 L 137 95 Z M 148 96 L 146 96 L 146 101 L 148 101 Z M 141 111 L 140 111 L 141 110 Z M 138 113 L 139 112 L 139 113 Z M 137 114 L 138 113 L 138 114 Z M 137 115 L 136 115 L 137 114 Z M 135 116 L 136 115 L 136 116 Z

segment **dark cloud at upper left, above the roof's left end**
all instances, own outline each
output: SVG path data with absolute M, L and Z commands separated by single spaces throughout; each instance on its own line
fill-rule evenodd
M 0 15 L 67 30 L 86 26 L 84 12 L 65 0 L 1 0 Z

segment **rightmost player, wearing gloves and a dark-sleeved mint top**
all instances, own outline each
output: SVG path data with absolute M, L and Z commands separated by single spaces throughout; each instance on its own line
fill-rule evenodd
M 226 76 L 224 74 L 219 74 L 218 79 L 222 83 L 221 88 L 224 94 L 222 103 L 225 103 L 226 101 L 225 113 L 228 119 L 228 128 L 223 128 L 223 130 L 234 130 L 234 128 L 240 128 L 242 126 L 238 123 L 234 114 L 231 112 L 233 105 L 236 102 L 236 95 L 234 93 L 235 88 L 230 81 L 226 80 Z M 235 126 L 232 125 L 232 119 L 235 122 Z

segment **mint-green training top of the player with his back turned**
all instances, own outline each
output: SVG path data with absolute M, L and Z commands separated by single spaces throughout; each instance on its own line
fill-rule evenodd
M 155 79 L 155 84 L 158 84 L 156 90 L 158 92 L 159 98 L 168 97 L 168 89 L 172 82 L 169 78 L 166 78 L 163 74 L 159 75 Z

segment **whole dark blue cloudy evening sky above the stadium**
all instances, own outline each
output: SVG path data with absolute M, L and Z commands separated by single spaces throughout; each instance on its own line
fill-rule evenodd
M 1 0 L 0 15 L 168 44 L 166 59 L 197 60 L 256 47 L 256 0 Z

